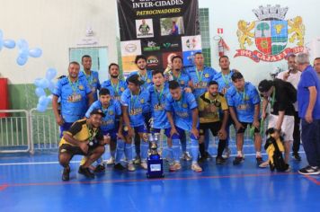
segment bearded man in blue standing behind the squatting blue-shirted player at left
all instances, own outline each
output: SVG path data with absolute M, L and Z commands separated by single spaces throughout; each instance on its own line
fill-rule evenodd
M 111 63 L 109 65 L 109 75 L 110 80 L 104 81 L 102 83 L 102 88 L 106 88 L 110 91 L 111 99 L 120 102 L 121 94 L 127 89 L 127 83 L 124 80 L 119 79 L 119 66 L 118 64 Z M 117 120 L 119 122 L 119 120 Z M 110 159 L 107 160 L 107 164 L 111 165 L 114 163 L 115 153 L 116 153 L 116 143 L 111 140 L 110 142 Z

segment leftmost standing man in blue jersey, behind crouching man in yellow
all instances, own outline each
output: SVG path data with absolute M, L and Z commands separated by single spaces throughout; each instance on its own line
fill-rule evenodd
M 84 118 L 85 111 L 93 103 L 92 90 L 84 78 L 78 77 L 79 70 L 80 65 L 71 62 L 67 68 L 68 76 L 58 80 L 52 93 L 52 110 L 60 126 L 60 137 L 76 120 Z

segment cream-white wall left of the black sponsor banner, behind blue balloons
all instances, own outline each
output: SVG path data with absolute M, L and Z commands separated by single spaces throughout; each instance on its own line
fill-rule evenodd
M 31 48 L 39 47 L 40 58 L 30 58 L 26 65 L 15 62 L 18 49 L 0 51 L 0 76 L 12 84 L 30 84 L 44 77 L 48 67 L 66 75 L 68 49 L 85 36 L 92 26 L 96 46 L 107 46 L 109 61 L 117 62 L 115 0 L 1 0 L 0 29 L 4 39 L 25 39 Z

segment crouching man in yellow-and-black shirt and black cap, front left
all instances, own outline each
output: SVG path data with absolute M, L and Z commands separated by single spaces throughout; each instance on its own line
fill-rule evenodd
M 93 110 L 89 119 L 77 120 L 71 128 L 64 132 L 64 136 L 59 143 L 58 160 L 64 167 L 62 180 L 69 180 L 71 161 L 74 155 L 85 155 L 87 160 L 80 165 L 79 173 L 85 177 L 93 179 L 94 174 L 90 172 L 89 166 L 104 153 L 104 145 L 108 143 L 103 139 L 100 126 L 102 123 L 102 110 Z

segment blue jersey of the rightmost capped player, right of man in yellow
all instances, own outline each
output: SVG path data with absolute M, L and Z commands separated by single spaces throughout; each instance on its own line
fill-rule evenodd
M 236 117 L 241 122 L 252 123 L 254 105 L 260 103 L 260 96 L 257 89 L 251 83 L 244 84 L 244 92 L 236 91 L 233 86 L 226 93 L 227 104 L 234 107 Z

